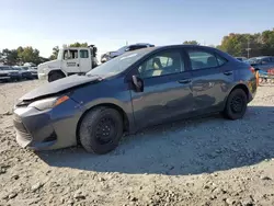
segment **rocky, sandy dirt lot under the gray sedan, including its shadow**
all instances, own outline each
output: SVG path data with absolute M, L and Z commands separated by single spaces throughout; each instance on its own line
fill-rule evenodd
M 0 84 L 0 205 L 274 205 L 274 87 L 241 121 L 158 126 L 94 156 L 16 145 L 10 111 L 38 84 Z

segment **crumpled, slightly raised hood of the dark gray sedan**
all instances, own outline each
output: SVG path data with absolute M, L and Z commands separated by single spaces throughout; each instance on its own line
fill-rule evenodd
M 62 78 L 62 79 L 53 81 L 50 83 L 46 83 L 39 88 L 36 88 L 35 90 L 23 95 L 20 99 L 20 101 L 28 101 L 28 100 L 34 100 L 34 99 L 46 96 L 46 95 L 56 94 L 67 89 L 75 88 L 77 85 L 81 85 L 81 84 L 90 83 L 90 82 L 96 82 L 101 80 L 102 78 L 98 76 L 94 76 L 94 77 L 78 76 L 78 75 L 69 76 L 67 78 Z

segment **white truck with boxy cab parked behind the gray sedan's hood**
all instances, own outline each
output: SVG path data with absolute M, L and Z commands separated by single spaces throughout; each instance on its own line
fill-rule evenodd
M 49 82 L 76 73 L 87 73 L 98 66 L 96 47 L 64 47 L 58 52 L 58 57 L 38 65 L 38 79 Z

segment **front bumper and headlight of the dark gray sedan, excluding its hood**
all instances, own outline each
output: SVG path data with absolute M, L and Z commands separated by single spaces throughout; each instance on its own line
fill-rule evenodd
M 79 103 L 68 95 L 22 101 L 13 115 L 16 141 L 34 150 L 73 146 L 76 130 L 67 128 L 77 128 L 79 112 Z

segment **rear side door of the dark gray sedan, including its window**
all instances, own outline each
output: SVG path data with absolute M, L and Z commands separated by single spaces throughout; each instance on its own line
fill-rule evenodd
M 193 75 L 193 98 L 195 112 L 220 110 L 226 98 L 226 85 L 233 79 L 233 71 L 226 59 L 206 49 L 187 49 Z

